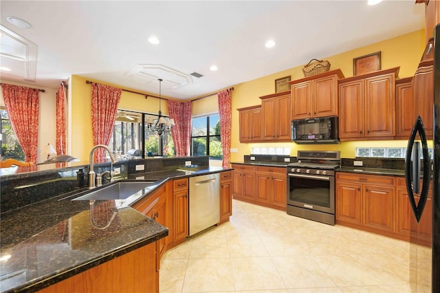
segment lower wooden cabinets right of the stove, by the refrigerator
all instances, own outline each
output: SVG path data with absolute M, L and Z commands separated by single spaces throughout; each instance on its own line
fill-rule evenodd
M 420 197 L 415 195 L 416 203 Z M 404 177 L 336 173 L 336 224 L 430 246 L 432 182 L 417 227 Z

